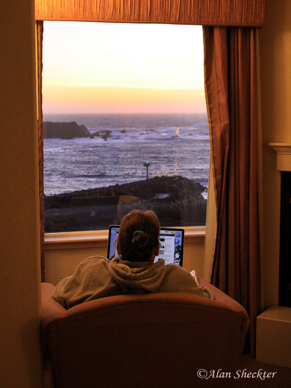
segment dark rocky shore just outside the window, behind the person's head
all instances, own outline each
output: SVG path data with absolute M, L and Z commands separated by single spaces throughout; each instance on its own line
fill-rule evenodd
M 162 226 L 205 225 L 205 187 L 181 176 L 45 196 L 46 232 L 107 229 L 134 208 L 152 209 Z

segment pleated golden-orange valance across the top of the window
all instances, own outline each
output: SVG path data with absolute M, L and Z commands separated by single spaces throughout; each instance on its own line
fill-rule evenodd
M 266 0 L 35 0 L 35 20 L 261 27 Z

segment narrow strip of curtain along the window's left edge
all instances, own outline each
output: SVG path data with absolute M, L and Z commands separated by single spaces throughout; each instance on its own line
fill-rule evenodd
M 42 39 L 43 39 L 43 21 L 36 23 L 36 44 L 37 44 L 37 92 L 38 92 L 38 175 L 39 175 L 39 226 L 40 226 L 40 260 L 41 260 L 41 281 L 45 277 L 44 264 L 44 177 L 43 177 L 43 125 L 42 125 Z

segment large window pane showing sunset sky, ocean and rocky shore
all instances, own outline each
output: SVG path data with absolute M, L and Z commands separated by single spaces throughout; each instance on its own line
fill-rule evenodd
M 44 23 L 45 231 L 205 225 L 202 27 Z

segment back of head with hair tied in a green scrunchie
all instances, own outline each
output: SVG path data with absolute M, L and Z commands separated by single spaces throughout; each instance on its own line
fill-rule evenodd
M 120 223 L 117 247 L 121 258 L 149 261 L 158 254 L 159 235 L 160 223 L 154 211 L 132 210 Z

